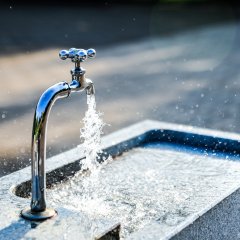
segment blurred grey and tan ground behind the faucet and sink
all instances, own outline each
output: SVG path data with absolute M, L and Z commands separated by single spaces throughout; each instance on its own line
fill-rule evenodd
M 5 1 L 0 4 L 0 176 L 30 164 L 40 95 L 70 81 L 61 49 L 95 48 L 82 64 L 105 134 L 142 121 L 240 133 L 240 26 L 234 1 Z M 52 109 L 47 156 L 80 143 L 86 95 Z

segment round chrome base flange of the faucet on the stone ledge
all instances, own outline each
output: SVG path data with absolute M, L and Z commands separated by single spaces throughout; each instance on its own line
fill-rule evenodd
M 57 215 L 52 208 L 46 208 L 43 212 L 32 212 L 30 208 L 21 211 L 21 216 L 30 221 L 44 221 Z

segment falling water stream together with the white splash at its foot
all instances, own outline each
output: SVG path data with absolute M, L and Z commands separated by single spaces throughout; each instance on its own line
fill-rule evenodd
M 83 141 L 83 151 L 85 158 L 81 160 L 81 171 L 77 172 L 69 182 L 69 186 L 60 185 L 61 190 L 49 194 L 49 197 L 54 199 L 53 203 L 60 203 L 64 208 L 69 210 L 79 210 L 82 214 L 79 215 L 79 221 L 87 222 L 85 231 L 95 239 L 98 227 L 92 222 L 98 222 L 99 216 L 103 213 L 106 215 L 108 209 L 104 204 L 104 198 L 98 195 L 96 189 L 102 185 L 99 175 L 103 166 L 111 160 L 104 159 L 104 164 L 100 164 L 100 154 L 103 152 L 101 148 L 101 135 L 103 127 L 106 125 L 101 116 L 102 113 L 96 110 L 95 96 L 87 95 L 88 109 L 83 118 L 83 128 L 80 129 L 80 139 Z M 82 179 L 79 183 L 79 177 Z M 70 189 L 78 189 L 79 192 L 70 191 Z M 71 199 L 71 205 L 65 199 Z M 85 216 L 83 219 L 82 217 Z M 88 219 L 88 216 L 91 217 Z

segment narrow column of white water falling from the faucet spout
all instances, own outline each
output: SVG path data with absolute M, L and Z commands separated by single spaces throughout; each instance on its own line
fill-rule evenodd
M 106 125 L 101 119 L 102 113 L 96 111 L 95 95 L 87 95 L 88 109 L 83 118 L 84 127 L 80 129 L 80 139 L 83 140 L 85 159 L 82 160 L 82 170 L 94 173 L 99 167 L 101 150 L 101 135 Z

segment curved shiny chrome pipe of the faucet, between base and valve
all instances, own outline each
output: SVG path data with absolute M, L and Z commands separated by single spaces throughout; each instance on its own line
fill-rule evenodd
M 68 97 L 69 84 L 60 82 L 48 88 L 36 106 L 32 130 L 32 201 L 31 211 L 42 212 L 46 209 L 46 132 L 48 116 L 54 102 Z

